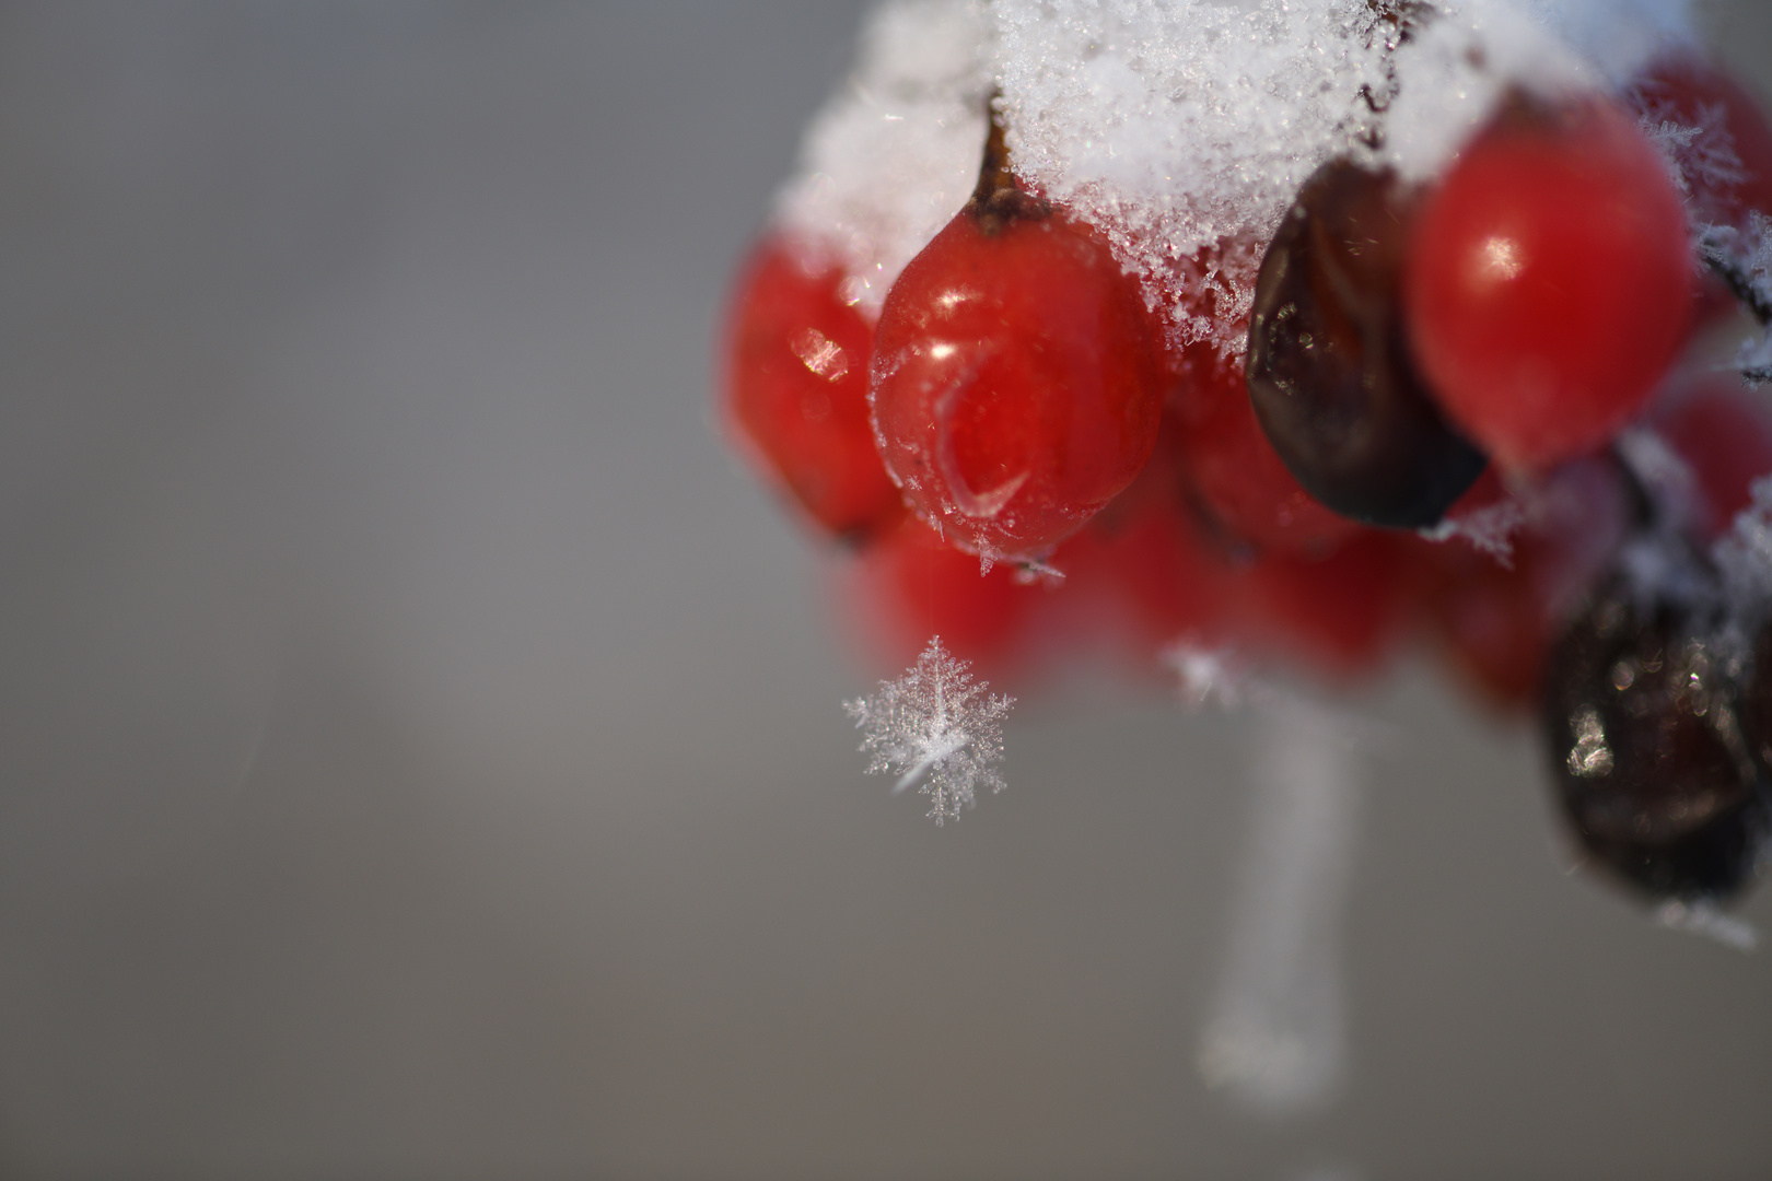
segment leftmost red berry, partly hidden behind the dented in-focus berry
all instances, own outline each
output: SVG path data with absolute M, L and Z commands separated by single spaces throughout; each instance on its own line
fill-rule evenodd
M 868 423 L 874 333 L 840 282 L 808 271 L 792 243 L 758 244 L 732 294 L 723 411 L 769 483 L 826 533 L 865 542 L 904 517 L 904 499 Z

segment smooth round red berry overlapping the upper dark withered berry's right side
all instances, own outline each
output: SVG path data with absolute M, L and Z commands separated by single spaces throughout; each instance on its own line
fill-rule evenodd
M 1605 443 L 1685 340 L 1680 195 L 1628 115 L 1508 106 L 1426 198 L 1403 276 L 1416 363 L 1512 469 Z

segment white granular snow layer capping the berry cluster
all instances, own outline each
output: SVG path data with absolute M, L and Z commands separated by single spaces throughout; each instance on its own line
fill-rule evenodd
M 1175 345 L 1235 354 L 1318 165 L 1432 177 L 1508 87 L 1614 89 L 1687 28 L 1683 0 L 891 0 L 778 221 L 877 312 L 971 193 L 998 92 L 1022 181 L 1108 234 Z

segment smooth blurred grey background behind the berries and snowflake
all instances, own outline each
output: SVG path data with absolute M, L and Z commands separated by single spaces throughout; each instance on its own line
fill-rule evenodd
M 0 1176 L 1772 1174 L 1772 956 L 1566 876 L 1426 671 L 1292 1121 L 1194 1069 L 1247 719 L 1056 687 L 941 830 L 861 776 L 707 411 L 859 14 L 0 9 Z

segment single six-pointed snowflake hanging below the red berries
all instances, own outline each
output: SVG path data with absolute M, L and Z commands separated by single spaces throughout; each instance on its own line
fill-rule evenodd
M 934 636 L 916 664 L 898 680 L 882 680 L 872 698 L 845 701 L 861 731 L 868 774 L 897 774 L 893 791 L 921 781 L 929 814 L 939 825 L 971 807 L 980 786 L 1003 790 L 1003 719 L 1015 698 L 985 696 L 971 664 Z

